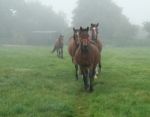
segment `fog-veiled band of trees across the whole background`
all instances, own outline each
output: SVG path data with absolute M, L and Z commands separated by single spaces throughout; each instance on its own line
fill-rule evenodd
M 78 0 L 67 12 L 56 9 L 48 1 L 1 0 L 0 44 L 52 45 L 60 34 L 67 43 L 73 27 L 99 23 L 99 36 L 106 46 L 150 45 L 150 21 L 131 22 L 112 0 Z

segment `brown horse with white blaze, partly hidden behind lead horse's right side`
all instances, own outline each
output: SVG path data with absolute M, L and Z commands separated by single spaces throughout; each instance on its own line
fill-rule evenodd
M 92 24 L 91 23 L 90 31 L 91 31 L 91 39 L 92 39 L 92 41 L 95 42 L 95 44 L 98 47 L 99 52 L 100 52 L 99 69 L 101 71 L 102 42 L 100 41 L 100 39 L 98 37 L 98 26 L 99 26 L 99 23 L 97 23 L 97 24 Z M 97 72 L 98 72 L 98 70 L 97 70 Z

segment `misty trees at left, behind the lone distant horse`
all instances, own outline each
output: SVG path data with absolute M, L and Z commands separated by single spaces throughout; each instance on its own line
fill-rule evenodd
M 0 43 L 50 44 L 67 27 L 63 13 L 39 2 L 0 0 Z

